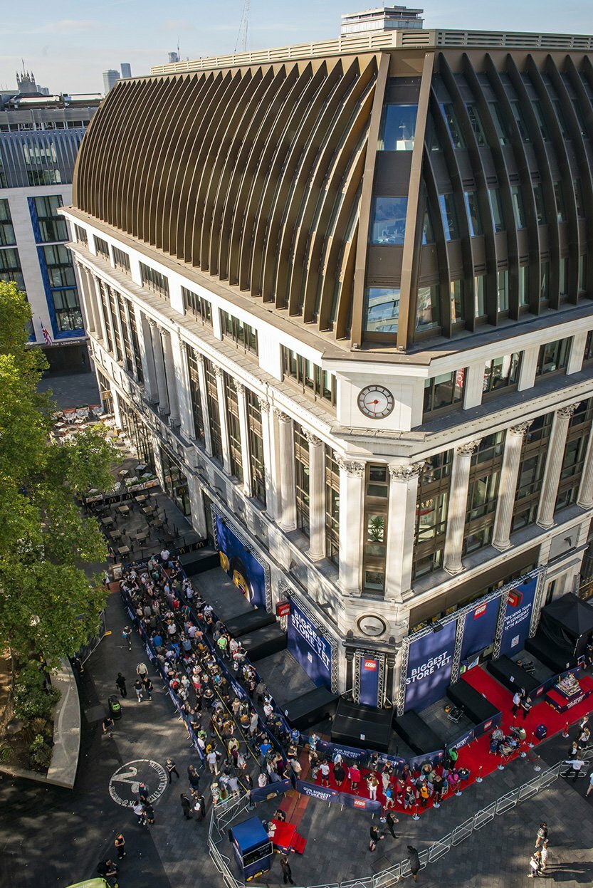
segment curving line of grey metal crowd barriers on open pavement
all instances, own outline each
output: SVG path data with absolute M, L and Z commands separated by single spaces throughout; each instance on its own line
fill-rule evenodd
M 590 756 L 587 761 L 590 761 Z M 458 827 L 455 827 L 453 832 L 450 832 L 447 836 L 443 836 L 433 842 L 430 847 L 424 848 L 424 850 L 418 855 L 420 858 L 420 867 L 423 869 L 427 867 L 429 863 L 436 863 L 437 860 L 440 860 L 441 857 L 444 857 L 449 851 L 451 851 L 455 845 L 461 844 L 478 829 L 482 829 L 487 823 L 494 821 L 496 816 L 500 816 L 506 811 L 509 811 L 510 808 L 514 808 L 519 802 L 524 802 L 526 799 L 534 797 L 542 789 L 549 787 L 551 783 L 557 780 L 561 770 L 565 768 L 565 766 L 565 760 L 562 760 L 557 762 L 556 765 L 552 765 L 546 771 L 538 773 L 537 777 L 534 777 L 533 780 L 526 781 L 526 783 L 523 783 L 511 792 L 497 798 L 496 801 L 491 802 L 486 808 L 473 814 L 467 821 L 460 823 Z M 217 847 L 218 844 L 222 844 L 226 841 L 225 833 L 222 832 L 221 829 L 228 829 L 228 827 L 232 825 L 232 821 L 239 816 L 239 813 L 245 810 L 248 801 L 249 800 L 245 797 L 240 799 L 240 802 L 244 803 L 241 806 L 241 811 L 231 813 L 231 816 L 225 821 L 224 826 L 221 821 L 216 822 L 214 812 L 212 812 L 210 818 L 210 830 L 208 834 L 210 857 L 214 861 L 218 872 L 223 876 L 227 888 L 246 888 L 246 885 L 233 876 L 233 872 L 230 868 L 230 858 L 225 854 L 222 854 Z M 217 840 L 214 836 L 214 830 L 216 830 L 218 834 Z M 412 871 L 410 869 L 409 860 L 401 860 L 399 863 L 383 869 L 380 873 L 376 873 L 374 876 L 368 876 L 363 879 L 351 879 L 344 882 L 326 882 L 318 885 L 309 885 L 307 888 L 391 888 L 391 885 L 398 884 L 401 879 L 406 879 L 411 875 Z

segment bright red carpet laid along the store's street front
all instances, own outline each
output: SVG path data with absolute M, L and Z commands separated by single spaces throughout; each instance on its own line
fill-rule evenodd
M 577 706 L 574 706 L 573 709 L 568 710 L 567 712 L 560 713 L 556 710 L 552 709 L 548 703 L 541 700 L 541 702 L 534 705 L 534 708 L 530 711 L 527 716 L 525 722 L 523 720 L 523 714 L 519 711 L 517 718 L 513 718 L 510 712 L 510 708 L 512 706 L 512 694 L 510 691 L 502 686 L 495 678 L 493 678 L 489 672 L 486 672 L 485 669 L 482 669 L 480 666 L 474 667 L 474 669 L 466 672 L 463 675 L 463 679 L 470 684 L 476 691 L 480 694 L 486 696 L 486 698 L 494 704 L 499 710 L 502 711 L 502 722 L 501 727 L 504 733 L 508 733 L 510 725 L 513 723 L 524 727 L 527 732 L 527 742 L 532 742 L 537 745 L 538 741 L 534 737 L 534 730 L 538 725 L 546 725 L 548 728 L 548 734 L 546 739 L 549 739 L 555 733 L 559 733 L 564 728 L 566 722 L 568 721 L 570 725 L 573 725 L 575 722 L 578 722 L 583 716 L 589 713 L 589 710 L 593 708 L 593 697 L 589 697 L 588 700 L 583 700 L 583 702 L 579 703 Z M 583 689 L 593 689 L 593 678 L 589 675 L 583 675 L 580 678 L 580 684 Z M 525 744 L 524 744 L 525 745 Z M 528 751 L 528 750 L 526 750 Z M 520 749 L 515 753 L 512 758 L 517 758 L 520 754 Z M 509 759 L 507 759 L 509 761 Z M 467 781 L 462 781 L 461 789 L 463 792 L 467 790 L 471 783 L 473 783 L 478 776 L 486 777 L 488 774 L 493 773 L 497 770 L 498 765 L 500 765 L 502 759 L 500 756 L 495 756 L 490 752 L 490 738 L 488 733 L 486 733 L 483 737 L 480 737 L 479 740 L 475 740 L 472 743 L 464 746 L 459 750 L 459 757 L 457 759 L 457 768 L 467 768 L 470 771 L 470 777 Z M 345 763 L 344 763 L 345 766 Z M 342 786 L 337 787 L 336 781 L 334 780 L 334 769 L 333 766 L 330 765 L 330 773 L 329 773 L 329 786 L 332 789 L 337 789 L 340 792 L 350 793 L 352 796 L 358 796 L 361 798 L 368 798 L 368 788 L 365 778 L 368 774 L 368 771 L 361 768 L 360 769 L 360 785 L 359 789 L 356 791 L 352 790 L 352 785 L 348 778 L 344 780 Z M 311 777 L 308 778 L 311 780 Z M 491 778 L 495 780 L 495 777 Z M 320 785 L 320 776 L 317 778 L 317 784 Z M 396 790 L 396 798 L 398 795 L 398 791 Z M 381 775 L 379 775 L 379 787 L 377 788 L 376 797 L 379 802 L 384 801 L 383 796 L 383 786 L 381 784 Z M 455 797 L 455 793 L 449 792 L 446 796 L 443 796 L 443 801 L 446 801 L 448 798 Z M 418 813 L 421 814 L 423 811 L 428 811 L 429 808 L 432 807 L 432 801 L 428 802 L 425 808 L 422 805 L 418 805 Z M 404 809 L 403 805 L 399 804 L 396 801 L 395 807 L 393 808 L 393 812 L 396 816 L 399 814 L 413 814 L 415 812 L 415 808 Z

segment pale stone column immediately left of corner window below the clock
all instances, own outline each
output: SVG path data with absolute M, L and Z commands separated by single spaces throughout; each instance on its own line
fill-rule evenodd
M 362 522 L 365 464 L 336 456 L 340 468 L 339 583 L 347 595 L 359 595 L 362 569 Z

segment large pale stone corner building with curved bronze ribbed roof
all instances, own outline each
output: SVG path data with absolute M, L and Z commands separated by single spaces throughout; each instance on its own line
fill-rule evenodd
M 65 212 L 100 387 L 341 691 L 374 660 L 402 708 L 413 630 L 530 575 L 533 633 L 578 582 L 592 50 L 415 28 L 180 62 L 116 83 L 83 140 Z

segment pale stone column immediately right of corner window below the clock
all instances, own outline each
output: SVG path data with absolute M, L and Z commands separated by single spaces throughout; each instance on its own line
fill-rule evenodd
M 402 600 L 412 583 L 418 476 L 423 463 L 390 465 L 385 598 Z

